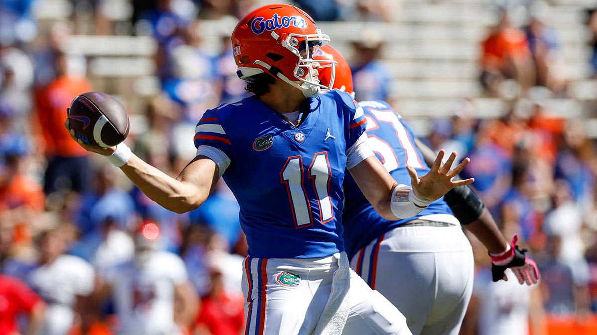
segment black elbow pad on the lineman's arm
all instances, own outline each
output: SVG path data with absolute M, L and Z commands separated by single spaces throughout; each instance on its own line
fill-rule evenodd
M 445 194 L 444 200 L 461 225 L 475 222 L 485 208 L 481 198 L 468 185 L 454 187 Z

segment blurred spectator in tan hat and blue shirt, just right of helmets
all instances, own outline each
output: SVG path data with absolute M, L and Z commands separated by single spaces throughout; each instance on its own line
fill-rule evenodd
M 380 32 L 364 29 L 358 40 L 352 41 L 353 60 L 350 65 L 356 101 L 389 99 L 389 70 L 380 60 L 383 40 Z

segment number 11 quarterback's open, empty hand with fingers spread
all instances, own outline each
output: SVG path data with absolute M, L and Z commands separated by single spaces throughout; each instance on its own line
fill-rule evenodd
M 442 165 L 444 154 L 444 150 L 439 151 L 431 170 L 426 175 L 421 176 L 421 178 L 418 178 L 417 171 L 412 166 L 407 166 L 408 173 L 410 173 L 412 179 L 414 194 L 418 198 L 435 201 L 452 188 L 467 185 L 475 181 L 474 178 L 453 181 L 452 178 L 464 169 L 464 166 L 470 162 L 470 159 L 467 157 L 456 168 L 451 169 L 452 163 L 456 159 L 456 153 L 451 153 L 448 160 Z

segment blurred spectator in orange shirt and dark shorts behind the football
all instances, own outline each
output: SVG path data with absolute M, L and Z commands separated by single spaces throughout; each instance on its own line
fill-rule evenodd
M 44 148 L 48 164 L 45 170 L 44 191 L 84 191 L 90 181 L 89 153 L 70 139 L 64 129 L 66 108 L 78 94 L 93 91 L 90 82 L 83 77 L 72 76 L 69 72 L 69 56 L 57 54 L 57 77 L 50 85 L 36 94 L 35 134 Z

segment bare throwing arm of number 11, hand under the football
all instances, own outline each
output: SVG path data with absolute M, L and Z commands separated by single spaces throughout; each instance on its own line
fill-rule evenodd
M 68 119 L 64 126 L 69 129 Z M 110 156 L 116 151 L 116 147 L 99 148 L 84 144 L 76 138 L 74 130 L 70 130 L 70 138 L 85 150 L 103 156 Z M 133 153 L 120 168 L 149 198 L 176 213 L 190 212 L 201 206 L 220 178 L 217 164 L 205 156 L 191 160 L 176 178 L 149 165 Z

